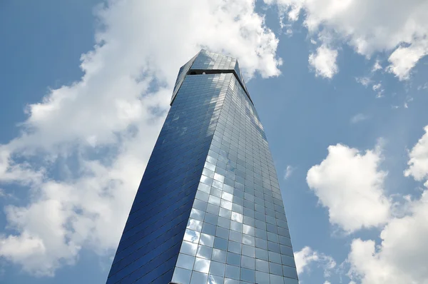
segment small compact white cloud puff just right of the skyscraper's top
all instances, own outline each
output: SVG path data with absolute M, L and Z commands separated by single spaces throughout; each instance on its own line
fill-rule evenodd
M 333 78 L 338 71 L 336 59 L 337 50 L 322 45 L 317 48 L 315 54 L 310 54 L 309 65 L 315 69 L 315 76 Z

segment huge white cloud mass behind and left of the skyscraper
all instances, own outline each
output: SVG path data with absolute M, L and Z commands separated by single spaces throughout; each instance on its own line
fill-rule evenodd
M 175 76 L 201 47 L 237 56 L 247 78 L 280 73 L 278 41 L 253 0 L 110 1 L 97 13 L 83 77 L 29 105 L 23 134 L 0 146 L 0 183 L 31 196 L 6 207 L 15 233 L 0 237 L 0 255 L 36 275 L 81 248 L 116 248 Z

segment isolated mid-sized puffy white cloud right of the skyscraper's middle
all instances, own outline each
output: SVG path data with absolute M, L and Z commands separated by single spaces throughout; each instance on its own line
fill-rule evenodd
M 337 144 L 328 147 L 328 155 L 307 172 L 307 184 L 327 207 L 330 223 L 347 233 L 377 227 L 387 222 L 388 198 L 384 196 L 386 172 L 379 170 L 380 146 L 361 153 Z

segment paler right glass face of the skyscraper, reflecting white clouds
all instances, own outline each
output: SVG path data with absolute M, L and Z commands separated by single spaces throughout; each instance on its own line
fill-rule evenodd
M 282 204 L 263 126 L 230 76 L 173 283 L 297 284 Z

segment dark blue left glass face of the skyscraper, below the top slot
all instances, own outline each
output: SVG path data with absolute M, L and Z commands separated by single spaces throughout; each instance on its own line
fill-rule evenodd
M 186 76 L 123 230 L 107 283 L 169 283 L 233 74 Z

